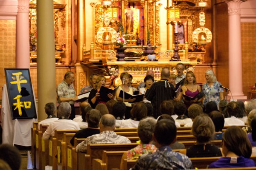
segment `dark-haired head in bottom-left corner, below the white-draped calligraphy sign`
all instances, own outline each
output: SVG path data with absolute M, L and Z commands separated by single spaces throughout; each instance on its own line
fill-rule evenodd
M 19 150 L 16 147 L 10 144 L 1 144 L 0 159 L 5 161 L 12 170 L 20 169 L 21 156 Z

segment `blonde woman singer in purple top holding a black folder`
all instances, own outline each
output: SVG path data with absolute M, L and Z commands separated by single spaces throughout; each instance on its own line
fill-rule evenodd
M 186 73 L 186 79 L 184 85 L 181 87 L 182 94 L 189 96 L 189 97 L 195 97 L 197 94 L 199 94 L 202 89 L 199 85 L 196 84 L 196 78 L 195 74 L 193 72 L 187 72 Z M 202 102 L 202 99 L 194 99 L 194 100 L 187 100 L 186 97 L 182 96 L 182 99 L 186 105 L 187 108 L 189 108 L 190 105 L 193 103 Z

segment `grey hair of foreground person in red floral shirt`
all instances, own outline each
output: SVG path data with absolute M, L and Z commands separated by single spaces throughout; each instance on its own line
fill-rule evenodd
M 138 136 L 140 137 L 141 143 L 148 144 L 152 141 L 152 134 L 156 124 L 157 120 L 152 117 L 148 117 L 140 121 L 138 125 Z

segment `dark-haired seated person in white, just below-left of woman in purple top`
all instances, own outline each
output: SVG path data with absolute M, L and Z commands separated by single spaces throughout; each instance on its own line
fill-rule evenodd
M 178 122 L 180 125 L 185 125 L 192 122 L 192 119 L 185 115 L 186 105 L 183 102 L 175 102 L 174 113 L 178 115 L 178 117 L 175 119 L 175 122 Z

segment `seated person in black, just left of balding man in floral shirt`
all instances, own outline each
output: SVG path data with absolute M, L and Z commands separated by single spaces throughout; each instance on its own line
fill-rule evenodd
M 96 109 L 90 109 L 86 113 L 86 120 L 88 127 L 86 129 L 79 130 L 70 140 L 70 144 L 74 146 L 75 138 L 87 138 L 89 136 L 99 134 L 99 119 L 101 118 L 101 113 Z

